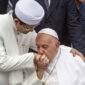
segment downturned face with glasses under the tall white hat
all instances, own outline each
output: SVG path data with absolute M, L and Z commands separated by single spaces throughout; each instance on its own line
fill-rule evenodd
M 20 21 L 18 19 L 14 19 L 16 28 L 18 31 L 20 31 L 21 33 L 27 34 L 28 32 L 32 32 L 34 30 L 34 28 L 38 25 L 23 25 L 20 24 Z

